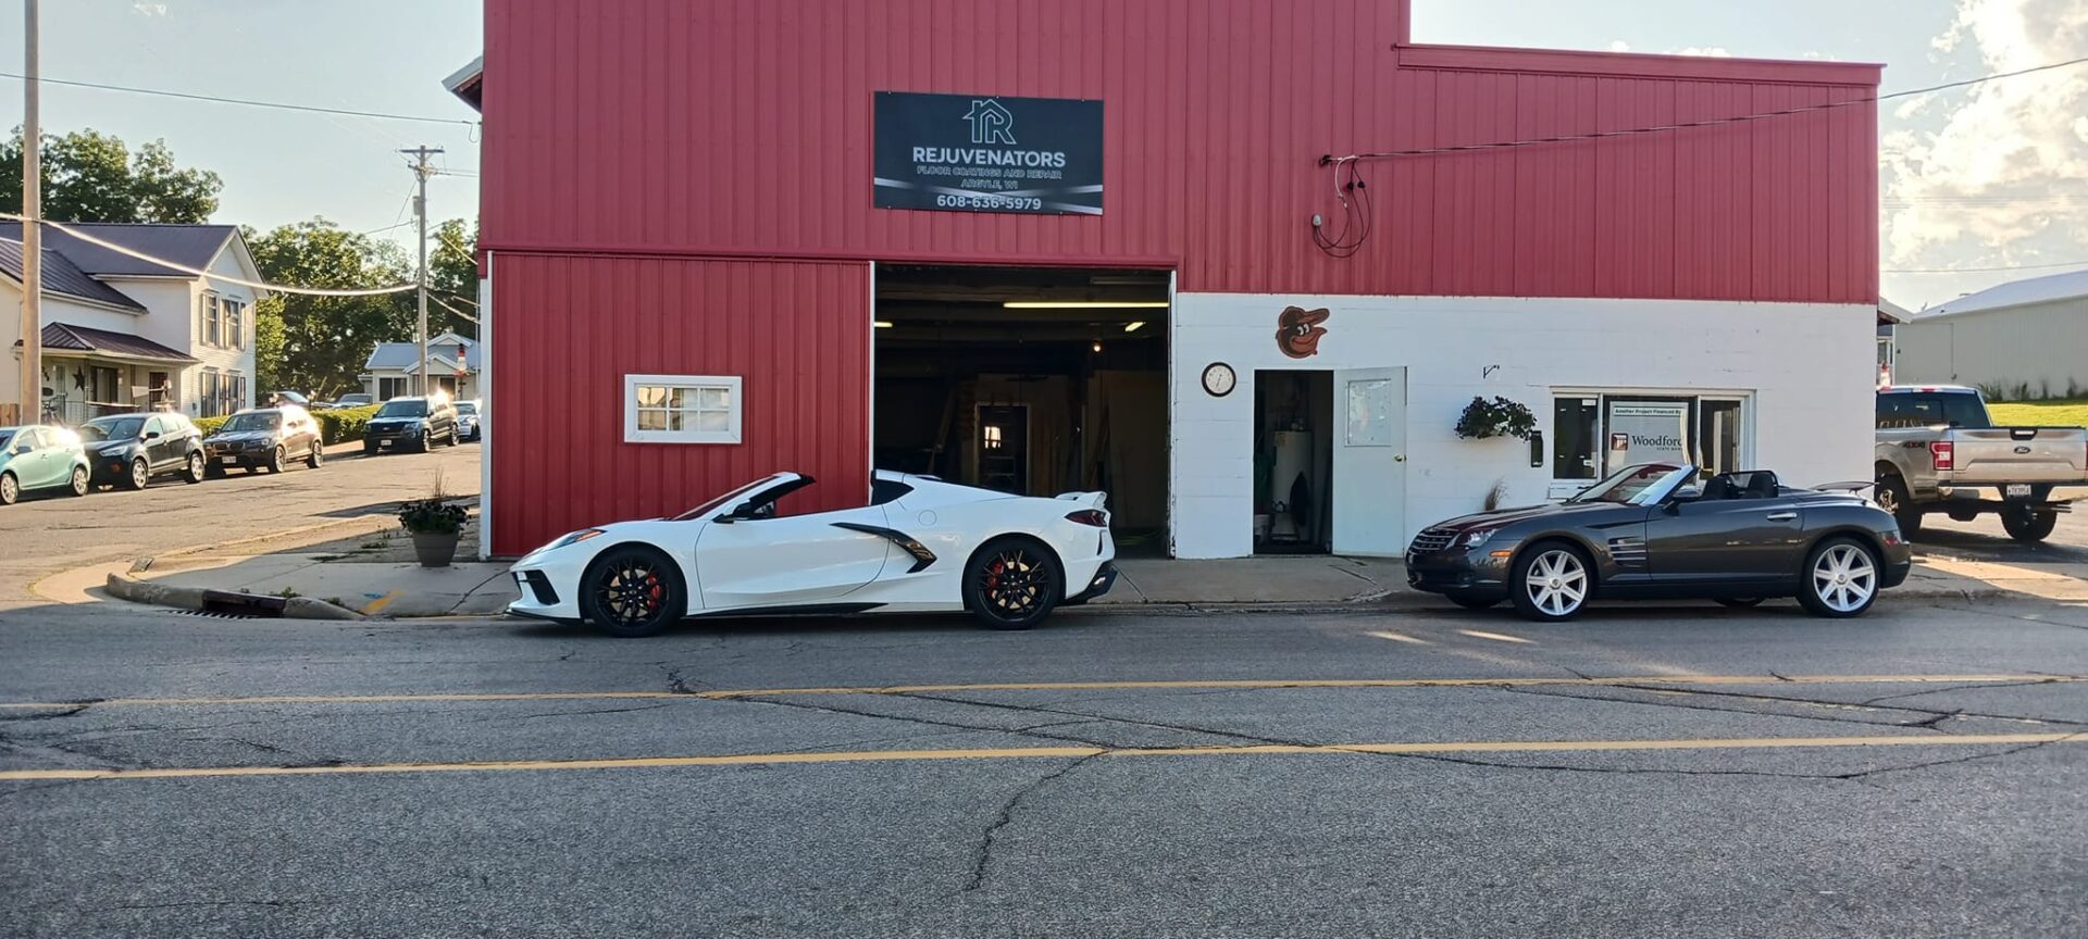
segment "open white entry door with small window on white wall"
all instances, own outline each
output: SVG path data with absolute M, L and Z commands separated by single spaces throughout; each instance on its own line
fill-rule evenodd
M 1407 369 L 1334 371 L 1334 553 L 1405 551 Z

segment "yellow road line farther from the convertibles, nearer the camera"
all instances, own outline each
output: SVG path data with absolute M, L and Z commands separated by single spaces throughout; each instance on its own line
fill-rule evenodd
M 180 766 L 157 770 L 0 770 L 0 780 L 138 780 L 219 776 L 357 776 L 397 772 L 537 772 L 537 770 L 647 770 L 750 764 L 858 764 L 929 760 L 1040 760 L 1040 757 L 1165 757 L 1165 755 L 1276 755 L 1276 753 L 1560 753 L 1658 749 L 1821 749 L 1821 747 L 2000 747 L 2082 743 L 2088 732 L 2065 735 L 1898 735 L 1898 737 L 1739 737 L 1664 741 L 1443 741 L 1443 743 L 1330 743 L 1253 747 L 1000 747 L 1000 749 L 864 749 L 833 753 L 733 753 L 614 760 L 499 760 L 459 764 L 353 764 L 353 766 Z

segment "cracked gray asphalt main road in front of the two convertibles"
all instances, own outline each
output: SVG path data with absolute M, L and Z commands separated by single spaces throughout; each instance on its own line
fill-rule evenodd
M 0 935 L 2084 935 L 2078 676 L 2088 605 L 1890 597 L 654 641 L 29 607 Z

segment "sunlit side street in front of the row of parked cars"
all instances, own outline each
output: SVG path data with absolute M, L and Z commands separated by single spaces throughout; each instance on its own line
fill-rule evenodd
M 0 609 L 33 603 L 29 584 L 92 561 L 152 557 L 322 524 L 390 515 L 401 499 L 478 495 L 476 442 L 363 457 L 336 447 L 326 465 L 282 474 L 234 469 L 219 480 L 159 480 L 79 499 L 35 495 L 0 507 Z

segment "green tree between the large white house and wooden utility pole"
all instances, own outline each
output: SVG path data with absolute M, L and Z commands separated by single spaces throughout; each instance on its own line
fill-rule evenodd
M 326 219 L 267 234 L 246 232 L 246 246 L 269 284 L 380 288 L 409 282 L 413 271 L 397 244 Z M 359 386 L 357 376 L 378 342 L 409 340 L 413 326 L 411 290 L 382 296 L 269 294 L 255 305 L 255 371 L 271 390 L 330 399 Z

